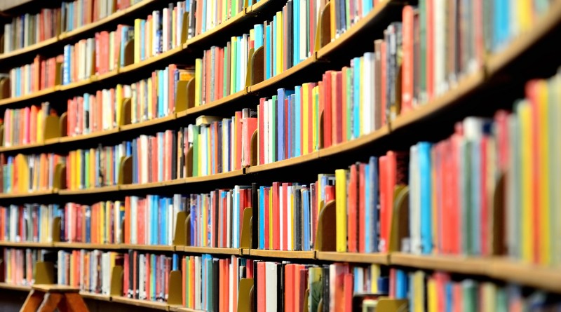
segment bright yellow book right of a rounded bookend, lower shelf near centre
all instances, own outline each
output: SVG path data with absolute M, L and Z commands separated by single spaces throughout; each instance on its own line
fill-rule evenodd
M 337 252 L 346 252 L 346 169 L 335 170 L 335 201 L 337 222 Z

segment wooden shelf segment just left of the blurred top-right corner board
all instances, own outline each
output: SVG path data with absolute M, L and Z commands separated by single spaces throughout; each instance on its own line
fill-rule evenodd
M 396 120 L 391 122 L 391 130 L 397 130 L 410 125 L 411 123 L 420 121 L 421 119 L 434 114 L 435 111 L 453 104 L 458 99 L 465 97 L 482 86 L 484 81 L 485 73 L 482 70 L 475 72 L 471 76 L 466 76 L 464 79 L 459 81 L 457 86 L 452 87 L 447 93 L 435 97 L 435 99 L 426 104 L 420 104 L 416 109 L 398 116 Z

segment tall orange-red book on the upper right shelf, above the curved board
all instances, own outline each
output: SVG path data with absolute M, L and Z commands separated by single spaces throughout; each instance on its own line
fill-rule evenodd
M 407 112 L 413 109 L 413 18 L 412 6 L 403 8 L 403 61 L 401 79 L 401 109 Z

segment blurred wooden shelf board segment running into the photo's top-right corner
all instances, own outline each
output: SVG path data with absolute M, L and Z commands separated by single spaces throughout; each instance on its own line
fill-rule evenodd
M 535 25 L 532 25 L 532 30 L 518 36 L 501 52 L 487 57 L 486 64 L 489 74 L 494 74 L 513 62 L 516 57 L 528 50 L 529 47 L 533 46 L 553 28 L 557 27 L 560 20 L 561 1 L 553 1 L 546 15 L 539 18 Z

